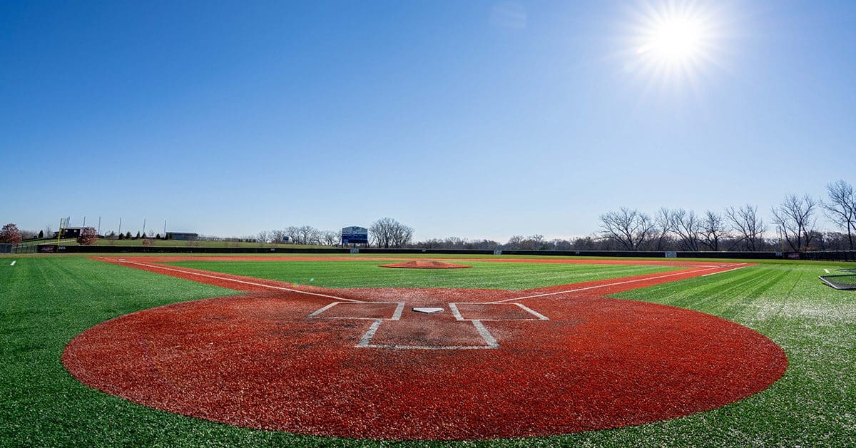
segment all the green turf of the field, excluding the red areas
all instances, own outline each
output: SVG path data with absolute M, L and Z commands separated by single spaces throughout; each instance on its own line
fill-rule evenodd
M 12 260 L 15 266 L 9 266 Z M 301 264 L 306 266 L 300 267 Z M 407 278 L 383 276 L 413 273 L 372 270 L 370 264 L 379 263 L 366 262 L 360 281 L 373 286 L 406 285 Z M 490 266 L 483 268 L 482 264 Z M 278 271 L 277 265 L 283 265 L 283 271 Z M 316 284 L 322 283 L 318 279 L 330 285 L 353 285 L 356 281 L 348 278 L 348 270 L 338 263 L 284 265 L 247 262 L 234 269 L 259 277 L 291 270 L 292 278 L 312 275 Z M 217 269 L 233 269 L 223 266 Z M 442 275 L 458 275 L 455 282 L 465 287 L 484 286 L 499 276 L 506 278 L 502 280 L 505 283 L 500 283 L 504 287 L 521 289 L 532 284 L 563 283 L 565 278 L 583 281 L 598 275 L 633 275 L 632 271 L 603 272 L 598 268 L 639 267 L 570 265 L 564 266 L 568 272 L 562 273 L 551 266 L 561 265 L 533 268 L 525 264 L 479 263 L 473 269 L 455 270 L 460 275 Z M 833 290 L 817 279 L 824 268 L 834 271 L 842 266 L 846 265 L 771 262 L 617 296 L 715 314 L 770 337 L 787 352 L 789 366 L 782 379 L 766 391 L 721 409 L 672 421 L 543 439 L 472 444 L 856 445 L 856 292 Z M 488 267 L 499 271 L 486 272 Z M 381 277 L 366 273 L 372 271 Z M 441 286 L 443 282 L 455 284 L 448 278 L 429 277 L 410 284 Z M 0 446 L 374 445 L 366 440 L 295 436 L 169 414 L 90 389 L 62 367 L 60 355 L 65 344 L 98 322 L 171 302 L 229 294 L 235 292 L 80 256 L 0 258 Z

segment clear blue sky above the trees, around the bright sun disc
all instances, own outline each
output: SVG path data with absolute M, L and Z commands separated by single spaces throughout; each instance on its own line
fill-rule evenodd
M 3 2 L 0 221 L 504 242 L 856 183 L 856 3 L 693 2 L 679 76 L 663 4 Z

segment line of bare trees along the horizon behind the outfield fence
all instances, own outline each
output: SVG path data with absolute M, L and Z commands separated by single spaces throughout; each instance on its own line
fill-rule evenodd
M 488 239 L 470 240 L 449 236 L 413 242 L 413 227 L 394 218 L 379 218 L 369 227 L 369 245 L 377 248 L 444 248 L 480 250 L 627 250 L 627 251 L 794 251 L 856 249 L 856 196 L 853 185 L 844 180 L 826 186 L 826 198 L 810 194 L 788 194 L 770 208 L 769 224 L 757 206 L 728 206 L 721 211 L 695 212 L 683 207 L 661 207 L 653 215 L 636 208 L 621 207 L 599 217 L 600 229 L 590 236 L 547 240 L 543 235 L 511 236 L 501 243 Z M 823 215 L 837 230 L 819 230 Z M 87 228 L 91 243 L 94 229 Z M 51 234 L 51 228 L 45 230 Z M 38 237 L 45 236 L 45 231 Z M 151 231 L 149 232 L 152 233 Z M 158 235 L 159 236 L 159 235 Z M 0 230 L 0 242 L 21 242 L 35 238 L 36 232 L 18 230 L 6 224 Z M 108 238 L 131 238 L 130 232 Z M 140 237 L 138 232 L 136 238 Z M 144 236 L 145 237 L 145 236 Z M 152 237 L 151 235 L 149 236 Z M 155 236 L 157 237 L 157 236 Z M 288 226 L 282 230 L 263 230 L 256 236 L 217 238 L 260 244 L 337 246 L 342 234 L 336 230 L 318 230 L 311 225 Z M 214 237 L 200 236 L 199 239 Z

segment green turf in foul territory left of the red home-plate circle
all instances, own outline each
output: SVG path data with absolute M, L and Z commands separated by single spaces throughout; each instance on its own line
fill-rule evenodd
M 81 385 L 60 363 L 86 328 L 140 309 L 235 291 L 84 258 L 0 270 L 0 445 L 320 444 L 149 409 Z M 205 440 L 205 442 L 201 442 Z

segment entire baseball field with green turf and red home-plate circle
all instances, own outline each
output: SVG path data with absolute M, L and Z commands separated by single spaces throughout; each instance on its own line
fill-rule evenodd
M 856 444 L 845 264 L 431 260 L 0 258 L 0 445 Z

